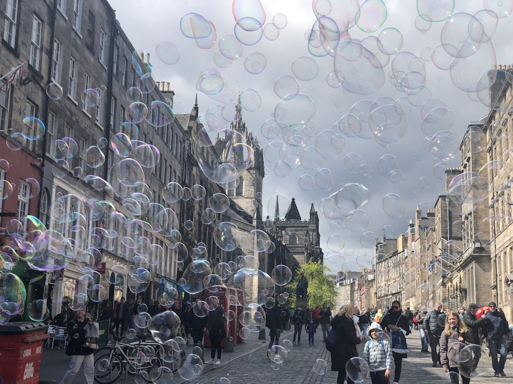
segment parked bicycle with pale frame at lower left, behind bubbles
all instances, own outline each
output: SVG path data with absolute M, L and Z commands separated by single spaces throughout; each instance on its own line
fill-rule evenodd
M 141 374 L 146 381 L 158 379 L 162 372 L 160 367 L 167 363 L 173 372 L 177 370 L 177 363 L 185 357 L 185 351 L 166 354 L 164 347 L 154 341 L 146 342 L 149 335 L 137 333 L 137 342 L 121 343 L 122 337 L 113 335 L 116 340 L 114 347 L 103 347 L 95 352 L 94 380 L 99 384 L 111 384 L 121 377 L 125 371 L 128 374 Z M 169 367 L 169 364 L 171 367 Z M 143 374 L 146 372 L 146 374 Z M 147 375 L 147 377 L 145 377 Z

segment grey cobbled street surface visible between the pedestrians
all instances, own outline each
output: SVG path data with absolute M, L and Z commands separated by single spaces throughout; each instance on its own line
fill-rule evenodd
M 330 371 L 331 357 L 322 343 L 322 332 L 319 328 L 315 334 L 314 345 L 308 345 L 306 332 L 302 332 L 302 345 L 293 346 L 288 353 L 283 364 L 279 369 L 272 361 L 267 358 L 267 345 L 269 343 L 268 331 L 266 331 L 266 341 L 259 340 L 258 333 L 251 333 L 244 344 L 234 346 L 234 352 L 222 354 L 222 364 L 220 366 L 205 365 L 203 373 L 192 382 L 198 384 L 219 383 L 221 378 L 227 378 L 232 384 L 296 384 L 296 383 L 336 383 L 337 372 Z M 285 331 L 281 338 L 292 341 L 293 332 Z M 418 331 L 413 331 L 407 337 L 408 358 L 403 360 L 403 370 L 401 375 L 401 384 L 442 384 L 446 381 L 445 373 L 441 367 L 431 367 L 431 354 L 421 352 L 421 343 Z M 360 345 L 360 355 L 362 355 L 363 344 Z M 192 353 L 192 346 L 187 346 L 186 354 Z M 210 349 L 205 350 L 205 358 L 210 358 Z M 327 363 L 327 370 L 324 375 L 318 375 L 314 372 L 313 366 L 317 359 L 323 359 Z M 69 357 L 62 349 L 48 347 L 44 348 L 43 358 L 40 370 L 40 380 L 56 380 L 59 382 L 69 367 Z M 472 382 L 480 384 L 513 383 L 513 358 L 508 355 L 505 372 L 507 377 L 494 377 L 494 371 L 491 368 L 491 359 L 487 353 L 483 355 L 477 369 L 482 375 L 473 378 Z M 393 379 L 393 367 L 391 378 Z M 171 383 L 185 383 L 180 375 L 175 372 Z M 83 382 L 82 371 L 78 373 L 74 380 L 75 383 Z M 133 376 L 128 375 L 125 378 L 123 374 L 120 380 L 115 384 L 133 383 Z M 169 382 L 169 381 L 168 381 Z M 368 378 L 365 383 L 370 383 Z M 390 381 L 391 382 L 391 381 Z

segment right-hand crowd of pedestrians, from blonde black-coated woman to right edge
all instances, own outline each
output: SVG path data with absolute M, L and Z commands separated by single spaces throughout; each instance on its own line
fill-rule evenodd
M 489 350 L 495 377 L 505 377 L 505 362 L 511 348 L 511 330 L 504 313 L 495 302 L 486 307 L 471 303 L 468 309 L 443 311 L 440 303 L 430 310 L 403 310 L 399 301 L 390 308 L 368 309 L 360 312 L 357 307 L 344 305 L 332 318 L 336 346 L 331 350 L 331 370 L 338 371 L 337 384 L 353 384 L 346 373 L 346 363 L 358 356 L 358 344 L 367 340 L 363 348 L 363 359 L 369 365 L 373 384 L 388 384 L 394 362 L 393 384 L 401 378 L 402 362 L 407 358 L 406 337 L 419 331 L 421 351 L 430 353 L 432 367 L 442 367 L 453 384 L 468 384 L 476 372 L 484 343 Z M 327 328 L 329 331 L 329 327 Z M 368 331 L 367 331 L 368 330 Z M 384 336 L 386 332 L 388 336 Z M 479 347 L 473 348 L 472 345 Z M 468 359 L 460 352 L 467 348 Z M 500 357 L 498 357 L 500 356 Z

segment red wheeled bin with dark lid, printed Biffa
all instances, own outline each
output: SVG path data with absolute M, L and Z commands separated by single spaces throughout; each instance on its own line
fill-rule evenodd
M 36 384 L 48 326 L 36 322 L 0 326 L 0 382 Z

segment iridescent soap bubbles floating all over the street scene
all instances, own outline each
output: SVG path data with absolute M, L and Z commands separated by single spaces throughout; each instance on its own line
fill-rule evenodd
M 487 138 L 481 127 L 470 126 L 462 141 L 452 132 L 455 114 L 444 101 L 433 97 L 432 90 L 428 88 L 428 63 L 446 71 L 453 86 L 470 100 L 497 112 L 509 112 L 510 108 L 509 104 L 489 97 L 489 93 L 501 87 L 504 81 L 513 81 L 509 70 L 496 69 L 492 44 L 499 20 L 511 14 L 513 3 L 485 0 L 483 9 L 473 13 L 454 13 L 454 1 L 417 0 L 416 5 L 414 25 L 419 32 L 428 33 L 436 23 L 441 26 L 440 44 L 433 48 L 425 47 L 418 54 L 402 51 L 405 36 L 401 31 L 392 27 L 382 29 L 389 12 L 383 1 L 367 0 L 360 4 L 357 0 L 314 0 L 311 9 L 314 22 L 304 33 L 306 42 L 303 41 L 309 55 L 295 58 L 290 74 L 272 81 L 272 92 L 278 101 L 270 118 L 260 127 L 261 135 L 269 140 L 263 149 L 263 157 L 270 172 L 278 178 L 286 178 L 294 169 L 301 169 L 303 175 L 298 179 L 298 186 L 303 191 L 321 190 L 326 193 L 324 196 L 327 197 L 320 200 L 318 208 L 330 228 L 359 236 L 360 245 L 364 248 L 372 247 L 376 237 L 368 230 L 371 219 L 365 209 L 373 197 L 368 185 L 379 175 L 391 184 L 402 185 L 406 176 L 399 160 L 391 154 L 382 156 L 377 164 L 371 164 L 367 156 L 355 152 L 349 152 L 342 158 L 344 148 L 351 141 L 367 140 L 367 143 L 390 148 L 403 143 L 412 130 L 418 130 L 424 137 L 422 147 L 434 161 L 433 176 L 439 180 L 445 178 L 447 162 L 458 157 L 460 142 L 470 153 L 486 150 Z M 48 144 L 54 160 L 51 166 L 53 176 L 65 178 L 72 175 L 87 183 L 91 193 L 87 196 L 57 195 L 47 210 L 53 223 L 51 229 L 31 215 L 8 220 L 5 225 L 10 242 L 0 248 L 0 323 L 5 323 L 24 307 L 33 321 L 45 321 L 49 316 L 45 300 L 26 303 L 23 282 L 9 272 L 20 259 L 26 261 L 31 269 L 43 273 L 60 271 L 70 263 L 76 265 L 80 272 L 76 284 L 64 282 L 61 291 L 52 291 L 51 298 L 53 303 L 60 303 L 64 297 L 71 297 L 71 309 L 85 309 L 91 302 L 105 300 L 110 285 L 126 286 L 135 294 L 149 287 L 150 270 L 165 254 L 156 236 L 165 238 L 164 246 L 172 250 L 172 262 L 177 267 L 187 265 L 179 281 L 185 292 L 193 295 L 223 292 L 230 306 L 240 307 L 237 311 L 228 309 L 225 316 L 227 321 L 237 318 L 243 325 L 239 331 L 243 339 L 265 325 L 265 309 L 272 308 L 276 302 L 286 302 L 288 293 L 275 297 L 275 287 L 290 282 L 290 269 L 277 265 L 269 275 L 259 269 L 259 259 L 250 255 L 274 251 L 275 244 L 269 235 L 260 229 L 249 230 L 232 222 L 220 222 L 218 218 L 230 208 L 229 192 L 238 188 L 241 176 L 255 165 L 253 142 L 236 128 L 243 111 L 259 111 L 263 99 L 261 92 L 253 88 L 246 88 L 236 95 L 222 70 L 241 60 L 248 74 L 262 74 L 268 67 L 269 57 L 253 52 L 252 48 L 247 54 L 247 47 L 257 46 L 264 37 L 272 44 L 286 28 L 288 20 L 281 13 L 269 20 L 259 0 L 234 0 L 231 9 L 233 34 L 230 35 L 218 36 L 214 23 L 198 13 L 188 13 L 180 20 L 183 36 L 200 49 L 215 51 L 212 67 L 201 70 L 195 88 L 219 105 L 209 108 L 195 122 L 190 150 L 206 178 L 225 188 L 227 194 L 207 196 L 202 185 L 189 188 L 176 181 L 165 184 L 158 192 L 151 190 L 147 178 L 157 165 L 162 164 L 162 155 L 155 145 L 140 140 L 137 124 L 163 129 L 174 121 L 175 110 L 163 101 L 143 101 L 148 100 L 146 96 L 155 89 L 155 80 L 141 66 L 140 58 L 145 52 L 133 52 L 131 65 L 137 73 L 136 87 L 126 92 L 128 106 L 124 116 L 127 121 L 122 123 L 122 132 L 115 133 L 110 140 L 102 137 L 87 147 L 79 147 L 71 137 L 58 138 Z M 362 39 L 351 37 L 351 34 L 358 36 L 360 32 L 367 35 Z M 181 58 L 179 47 L 172 41 L 160 42 L 155 50 L 157 57 L 166 65 L 174 65 Z M 332 60 L 332 69 L 327 74 L 320 74 L 316 60 L 321 57 Z M 302 93 L 300 87 L 300 84 L 318 78 L 322 78 L 331 89 L 364 95 L 368 99 L 352 104 L 337 121 L 327 126 L 323 122 L 320 128 L 321 124 L 313 120 L 318 110 L 317 100 Z M 371 96 L 385 86 L 393 87 L 396 95 Z M 86 112 L 96 108 L 106 90 L 105 86 L 99 86 L 81 92 L 78 99 L 82 108 Z M 50 82 L 46 86 L 46 94 L 52 100 L 60 100 L 63 87 L 57 82 Z M 420 117 L 419 123 L 410 122 L 414 115 Z M 506 123 L 505 120 L 496 120 L 485 128 L 496 132 L 497 127 Z M 19 151 L 32 142 L 41 141 L 45 132 L 45 123 L 40 119 L 26 117 L 17 126 L 9 127 L 7 147 L 11 151 Z M 501 135 L 491 139 L 501 145 L 506 145 L 508 140 Z M 103 178 L 97 176 L 100 174 L 98 169 L 105 165 L 109 150 L 112 150 L 114 158 L 110 159 L 112 166 Z M 507 150 L 506 154 L 509 152 Z M 81 159 L 80 165 L 73 167 L 77 158 Z M 349 174 L 360 177 L 362 183 L 345 180 L 336 185 L 336 177 L 330 169 L 334 162 Z M 37 163 L 35 165 L 41 165 L 40 159 Z M 9 167 L 8 160 L 0 159 L 0 173 L 7 172 Z M 374 172 L 376 167 L 377 173 Z M 497 173 L 513 174 L 513 167 L 508 162 L 490 161 L 474 171 L 465 172 L 448 184 L 446 200 L 453 214 L 468 215 L 480 202 L 486 201 L 490 193 L 499 195 L 510 189 L 511 180 L 495 185 L 489 178 L 489 175 Z M 416 183 L 422 189 L 431 186 L 426 176 L 418 178 Z M 2 177 L 0 191 L 0 200 L 12 198 L 16 193 L 33 199 L 40 195 L 41 186 L 34 178 L 20 180 L 16 185 Z M 208 199 L 208 207 L 200 212 L 200 220 L 202 224 L 214 227 L 216 246 L 224 252 L 231 252 L 236 261 L 224 263 L 212 258 L 213 255 L 209 257 L 206 245 L 201 242 L 187 247 L 179 231 L 181 223 L 175 210 L 156 203 L 156 193 L 171 206 L 180 201 Z M 257 198 L 261 200 L 261 196 Z M 403 217 L 406 203 L 400 195 L 386 193 L 379 200 L 388 218 Z M 268 203 L 269 212 L 274 211 L 277 202 L 285 207 L 290 200 L 283 195 L 273 196 Z M 253 213 L 257 207 L 246 206 L 245 210 Z M 193 230 L 200 225 L 195 220 L 183 223 L 185 228 Z M 490 224 L 503 220 L 494 215 L 475 223 L 476 239 L 483 245 L 489 245 Z M 264 226 L 270 229 L 272 223 L 269 221 Z M 305 239 L 303 243 L 308 245 L 309 240 Z M 346 246 L 341 233 L 330 236 L 327 246 L 326 260 L 342 263 L 342 270 L 360 269 L 372 263 L 374 258 L 369 252 L 355 254 L 353 247 Z M 104 250 L 121 255 L 129 260 L 129 265 L 109 266 L 106 279 L 103 279 L 97 269 L 103 260 Z M 453 256 L 442 254 L 441 258 L 442 262 L 450 261 Z M 430 282 L 418 287 L 423 297 L 428 297 L 434 289 Z M 171 307 L 178 297 L 175 288 L 166 289 L 159 296 L 159 303 Z M 449 307 L 455 304 L 445 303 Z M 428 303 L 423 303 L 423 306 L 430 307 Z M 197 303 L 193 310 L 196 315 L 205 317 L 212 309 L 211 301 L 206 300 Z M 134 328 L 127 332 L 127 337 L 133 339 L 137 331 L 148 330 L 162 344 L 164 360 L 175 361 L 177 352 L 185 344 L 182 338 L 176 337 L 180 328 L 179 317 L 172 311 L 151 317 L 142 303 L 138 304 L 137 312 Z M 440 316 L 440 321 L 445 322 L 445 318 Z M 458 350 L 460 372 L 466 377 L 480 375 L 473 364 L 481 354 L 478 347 L 451 346 Z M 271 367 L 280 369 L 292 348 L 290 340 L 283 340 L 282 345 L 275 348 L 271 354 Z M 198 353 L 180 361 L 178 371 L 186 380 L 198 377 L 203 370 L 199 357 L 201 351 L 195 352 Z M 140 361 L 147 361 L 153 354 L 155 352 L 148 348 L 140 356 Z M 172 378 L 172 372 L 168 372 L 166 367 L 158 367 L 158 370 L 159 375 Z M 323 375 L 327 370 L 326 362 L 322 359 L 315 361 L 313 370 Z M 368 367 L 360 358 L 351 359 L 346 371 L 355 382 L 362 382 L 368 376 Z M 135 379 L 146 381 L 152 376 L 138 372 Z M 222 378 L 220 382 L 229 380 Z

